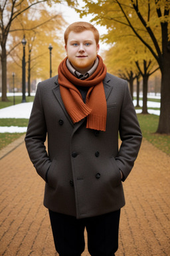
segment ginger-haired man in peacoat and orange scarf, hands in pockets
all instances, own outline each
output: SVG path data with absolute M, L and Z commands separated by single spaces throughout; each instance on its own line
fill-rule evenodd
M 127 81 L 107 73 L 98 55 L 97 29 L 73 23 L 64 40 L 67 57 L 58 75 L 37 87 L 25 142 L 46 182 L 44 206 L 59 255 L 81 255 L 86 227 L 90 255 L 112 256 L 125 205 L 122 181 L 137 157 L 141 131 Z

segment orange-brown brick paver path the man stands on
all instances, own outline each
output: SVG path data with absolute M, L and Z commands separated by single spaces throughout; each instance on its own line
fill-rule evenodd
M 33 168 L 25 144 L 2 157 L 0 166 L 0 255 L 57 255 L 48 210 L 42 205 L 44 181 Z M 124 183 L 126 207 L 116 256 L 170 255 L 169 180 L 170 157 L 143 139 Z M 87 246 L 82 256 L 88 256 Z

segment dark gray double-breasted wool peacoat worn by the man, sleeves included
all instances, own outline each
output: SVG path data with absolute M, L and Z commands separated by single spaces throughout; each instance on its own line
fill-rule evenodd
M 55 76 L 37 87 L 25 137 L 37 173 L 44 181 L 48 177 L 44 206 L 78 219 L 125 205 L 120 170 L 125 181 L 141 145 L 127 81 L 107 73 L 103 83 L 108 105 L 106 131 L 86 129 L 86 119 L 72 123 Z

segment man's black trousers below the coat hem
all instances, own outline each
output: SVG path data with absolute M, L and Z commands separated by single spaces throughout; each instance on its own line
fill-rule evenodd
M 92 256 L 114 256 L 118 250 L 120 210 L 85 219 L 49 210 L 56 251 L 60 256 L 80 256 L 84 251 L 84 229 Z

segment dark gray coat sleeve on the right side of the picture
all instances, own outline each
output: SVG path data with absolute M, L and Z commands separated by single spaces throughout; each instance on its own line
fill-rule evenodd
M 116 163 L 124 175 L 122 181 L 125 181 L 134 165 L 142 139 L 141 129 L 129 93 L 127 81 L 120 113 L 119 132 L 122 144 L 116 156 Z

